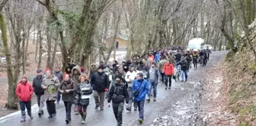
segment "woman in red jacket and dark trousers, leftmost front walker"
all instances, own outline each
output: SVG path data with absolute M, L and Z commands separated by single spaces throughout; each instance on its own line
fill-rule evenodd
M 33 119 L 31 115 L 31 96 L 34 93 L 32 85 L 27 81 L 27 76 L 23 75 L 21 77 L 21 81 L 18 83 L 18 86 L 15 91 L 16 95 L 18 96 L 21 108 L 21 122 L 26 121 L 26 112 L 25 109 L 27 108 L 27 115 L 30 116 L 30 119 Z

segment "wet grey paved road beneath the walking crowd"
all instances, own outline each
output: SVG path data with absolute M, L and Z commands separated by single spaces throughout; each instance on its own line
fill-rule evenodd
M 225 55 L 226 52 L 213 52 L 213 58 L 214 55 Z M 212 61 L 214 59 L 211 59 Z M 199 67 L 200 69 L 200 67 Z M 194 70 L 191 70 L 189 74 L 194 73 Z M 174 82 L 174 80 L 172 81 Z M 181 87 L 181 82 L 174 82 L 172 84 L 171 90 L 165 90 L 165 86 L 163 83 L 158 83 L 158 96 L 156 102 L 149 102 L 145 105 L 145 124 L 149 125 L 151 122 L 155 119 L 155 116 L 159 114 L 159 112 L 163 109 L 163 105 L 166 104 L 166 99 L 172 99 L 172 95 L 175 90 L 178 90 Z M 67 125 L 90 125 L 90 126 L 114 126 L 117 125 L 117 121 L 114 118 L 113 110 L 110 106 L 104 107 L 104 111 L 101 110 L 95 110 L 94 109 L 94 99 L 91 99 L 90 105 L 88 106 L 88 116 L 86 118 L 86 124 L 80 124 L 80 115 L 75 115 L 72 112 L 72 122 Z M 105 105 L 107 105 L 107 100 L 105 100 Z M 56 118 L 47 118 L 47 112 L 45 110 L 45 115 L 43 117 L 38 118 L 37 112 L 34 112 L 34 119 L 30 120 L 27 118 L 27 121 L 24 123 L 20 122 L 21 115 L 13 115 L 8 118 L 0 118 L 0 126 L 27 126 L 27 125 L 40 125 L 40 126 L 62 126 L 66 125 L 65 119 L 66 119 L 66 112 L 65 107 L 63 103 L 60 103 L 56 106 L 57 108 L 57 116 Z M 137 125 L 139 124 L 137 122 L 138 119 L 138 112 L 127 112 L 124 110 L 123 112 L 123 125 L 129 126 L 129 125 Z M 142 125 L 145 125 L 142 124 Z

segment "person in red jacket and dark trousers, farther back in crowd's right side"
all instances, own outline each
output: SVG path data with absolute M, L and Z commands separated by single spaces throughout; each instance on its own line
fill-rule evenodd
M 174 74 L 174 66 L 171 64 L 171 61 L 168 60 L 165 63 L 165 66 L 163 68 L 163 73 L 165 73 L 165 90 L 167 90 L 168 87 L 168 80 L 169 80 L 169 90 L 171 90 L 171 77 Z

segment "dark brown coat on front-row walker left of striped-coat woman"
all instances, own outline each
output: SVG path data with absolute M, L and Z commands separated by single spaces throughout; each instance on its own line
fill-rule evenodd
M 62 93 L 62 100 L 65 102 L 72 102 L 74 100 L 74 92 L 75 92 L 76 86 L 75 83 L 72 80 L 63 80 L 62 83 L 59 85 L 59 92 L 61 90 L 64 90 L 64 93 Z M 69 90 L 69 93 L 65 93 L 65 90 Z

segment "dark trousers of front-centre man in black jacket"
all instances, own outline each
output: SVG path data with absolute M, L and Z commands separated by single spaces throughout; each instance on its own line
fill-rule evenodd
M 113 105 L 113 111 L 114 111 L 115 118 L 117 119 L 117 126 L 122 126 L 124 102 L 113 103 L 112 105 Z

